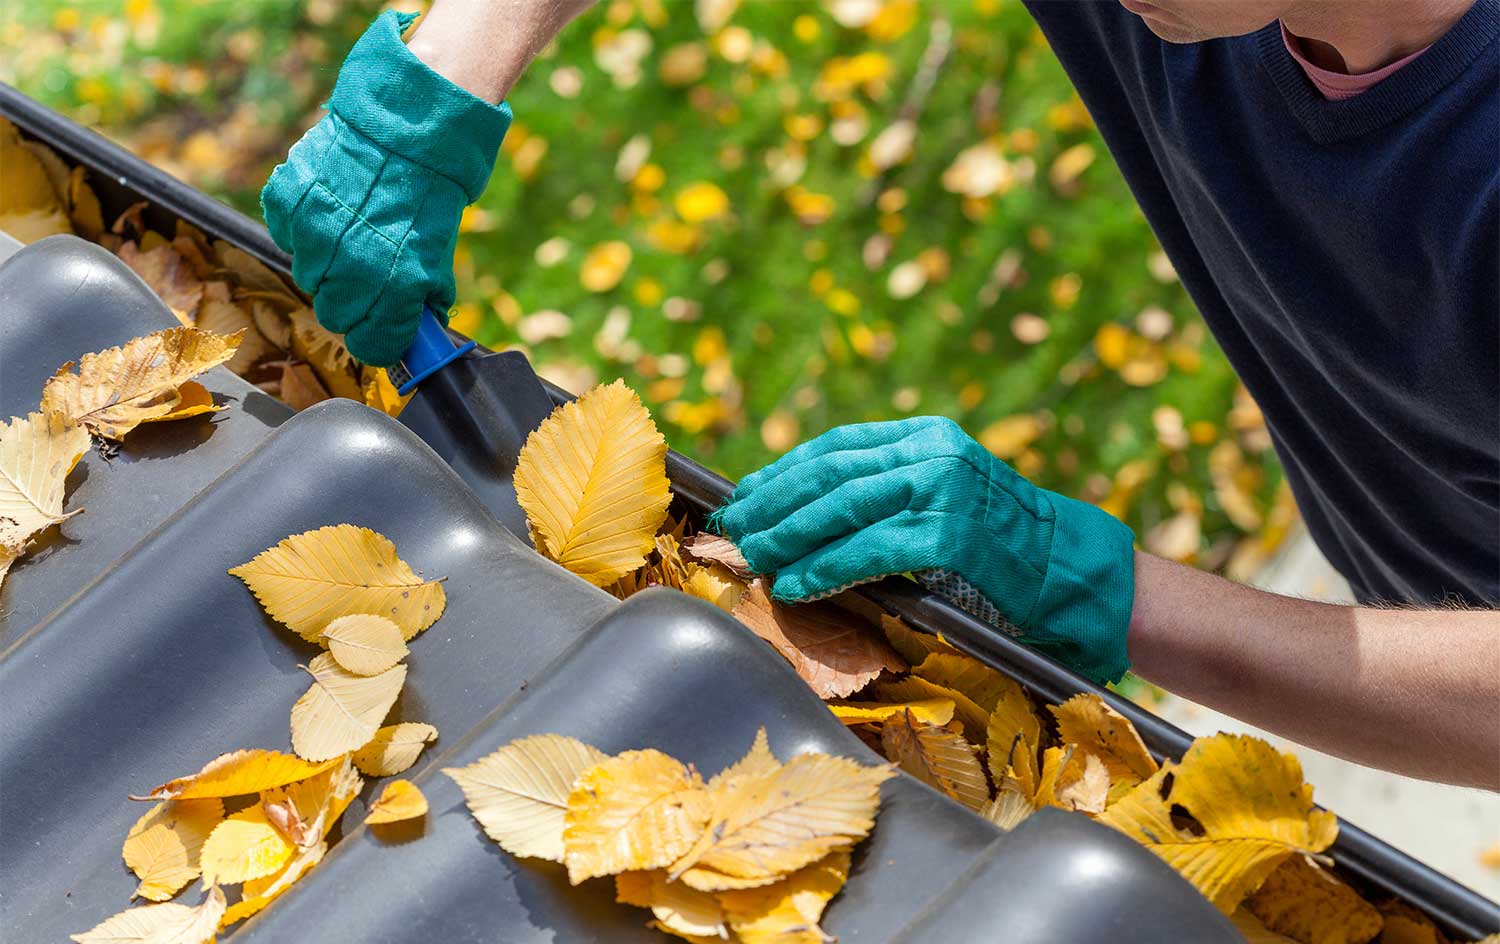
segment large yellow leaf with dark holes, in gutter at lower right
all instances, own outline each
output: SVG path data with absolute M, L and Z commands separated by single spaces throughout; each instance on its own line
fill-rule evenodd
M 1173 807 L 1196 822 L 1176 825 Z M 1164 858 L 1224 914 L 1287 857 L 1322 852 L 1338 836 L 1334 813 L 1314 809 L 1296 756 L 1230 734 L 1192 741 L 1180 764 L 1158 770 L 1098 819 Z

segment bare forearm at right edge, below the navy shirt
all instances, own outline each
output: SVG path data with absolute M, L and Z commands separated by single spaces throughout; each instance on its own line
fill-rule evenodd
M 1136 555 L 1130 656 L 1300 744 L 1500 789 L 1500 612 L 1334 606 Z

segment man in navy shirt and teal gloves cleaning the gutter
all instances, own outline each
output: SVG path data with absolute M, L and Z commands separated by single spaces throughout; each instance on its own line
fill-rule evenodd
M 915 572 L 1080 672 L 1500 789 L 1500 0 L 1034 3 L 1366 606 L 1134 551 L 950 420 L 832 429 L 716 515 L 788 600 Z M 586 0 L 438 0 L 358 42 L 264 194 L 318 317 L 392 363 L 453 302 L 496 107 Z M 1341 101 L 1340 101 L 1341 99 Z M 1402 608 L 1386 605 L 1400 603 Z

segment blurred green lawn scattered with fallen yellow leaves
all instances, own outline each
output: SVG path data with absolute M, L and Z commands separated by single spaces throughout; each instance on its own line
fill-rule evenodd
M 255 215 L 378 9 L 45 0 L 0 77 Z M 939 413 L 1170 557 L 1244 573 L 1284 533 L 1252 404 L 1014 0 L 609 0 L 510 101 L 456 258 L 482 342 L 624 377 L 729 476 Z

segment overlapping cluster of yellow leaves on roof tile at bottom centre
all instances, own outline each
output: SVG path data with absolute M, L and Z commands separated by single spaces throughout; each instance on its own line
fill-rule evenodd
M 706 785 L 660 750 L 609 758 L 556 734 L 444 773 L 508 852 L 566 861 L 574 884 L 614 875 L 657 929 L 741 944 L 830 939 L 818 923 L 894 776 L 820 753 L 782 764 L 765 729 Z

